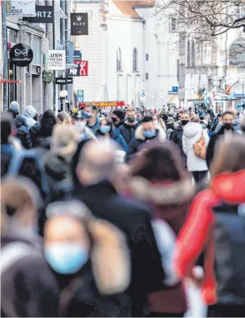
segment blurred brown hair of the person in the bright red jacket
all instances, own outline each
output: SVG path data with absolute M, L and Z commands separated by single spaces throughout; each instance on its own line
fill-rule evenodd
M 234 136 L 232 140 L 220 140 L 210 169 L 212 178 L 220 173 L 242 169 L 245 169 L 245 138 Z

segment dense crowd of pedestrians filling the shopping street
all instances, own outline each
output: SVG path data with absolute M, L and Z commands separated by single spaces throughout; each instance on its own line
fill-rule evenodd
M 244 250 L 236 110 L 1 114 L 2 317 L 244 317 Z

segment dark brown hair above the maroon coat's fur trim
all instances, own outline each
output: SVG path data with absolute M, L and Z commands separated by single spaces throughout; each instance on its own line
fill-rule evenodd
M 177 147 L 167 142 L 145 147 L 130 165 L 132 176 L 141 176 L 152 182 L 180 181 L 186 176 Z

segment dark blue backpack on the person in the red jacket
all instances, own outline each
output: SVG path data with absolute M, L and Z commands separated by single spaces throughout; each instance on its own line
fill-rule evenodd
M 213 209 L 218 304 L 244 305 L 245 203 L 237 207 L 225 204 Z

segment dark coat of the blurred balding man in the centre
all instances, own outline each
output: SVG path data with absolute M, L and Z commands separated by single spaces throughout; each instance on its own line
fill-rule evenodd
M 157 290 L 164 279 L 150 211 L 143 204 L 120 197 L 107 181 L 77 187 L 74 197 L 83 201 L 96 217 L 112 222 L 125 233 L 131 251 L 132 316 L 142 317 L 148 293 Z

